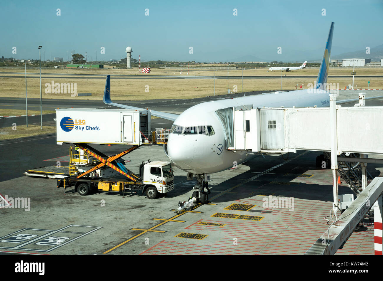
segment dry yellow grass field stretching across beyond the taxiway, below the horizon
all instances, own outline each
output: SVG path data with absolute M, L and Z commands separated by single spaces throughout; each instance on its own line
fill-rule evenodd
M 0 69 L 0 72 L 21 72 L 21 69 Z M 291 72 L 283 72 L 288 76 L 315 76 L 313 78 L 282 78 L 282 89 L 295 89 L 296 84 L 314 83 L 318 75 L 318 69 L 302 69 Z M 358 75 L 383 75 L 383 68 L 364 68 L 355 69 Z M 36 73 L 38 69 L 28 70 L 28 73 Z M 43 73 L 65 73 L 70 74 L 138 74 L 137 69 L 43 69 Z M 244 76 L 275 76 L 275 78 L 265 79 L 244 79 L 243 91 L 254 90 L 279 90 L 281 87 L 281 78 L 279 71 L 269 71 L 267 69 L 246 69 L 243 71 Z M 216 76 L 226 76 L 226 71 L 215 71 Z M 328 83 L 339 83 L 339 89 L 352 84 L 351 69 L 330 69 L 329 76 L 349 75 L 349 78 L 329 78 Z M 2 74 L 10 76 L 15 74 Z M 23 74 L 16 74 L 23 76 Z M 151 75 L 177 75 L 179 72 L 169 72 L 164 69 L 153 69 L 151 74 L 140 74 L 145 76 Z M 184 71 L 183 76 L 186 76 Z M 214 71 L 193 71 L 189 75 L 196 76 L 213 76 Z M 242 70 L 231 70 L 229 76 L 237 76 L 229 79 L 229 88 L 234 92 L 234 85 L 237 86 L 237 92 L 241 92 Z M 71 97 L 69 93 L 65 94 L 46 94 L 44 92 L 45 83 L 77 83 L 77 93 L 91 92 L 89 97 Z M 370 89 L 383 89 L 383 78 L 358 78 L 354 80 L 354 89 L 367 89 L 367 81 L 370 81 Z M 21 78 L 0 78 L 0 97 L 24 97 L 25 96 L 25 80 Z M 28 97 L 39 98 L 40 86 L 39 79 L 28 79 Z M 89 79 L 86 76 L 80 79 L 61 78 L 43 78 L 43 98 L 44 99 L 102 99 L 105 88 L 105 77 L 97 79 Z M 227 93 L 227 80 L 216 79 L 216 95 Z M 299 88 L 299 87 L 298 87 Z M 145 91 L 149 89 L 149 92 Z M 214 79 L 111 79 L 111 96 L 115 100 L 149 100 L 149 99 L 179 99 L 179 98 L 195 98 L 204 97 L 214 94 Z M 6 114 L 8 115 L 8 114 Z

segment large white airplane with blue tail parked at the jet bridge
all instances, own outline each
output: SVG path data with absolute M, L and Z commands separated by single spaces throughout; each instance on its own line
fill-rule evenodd
M 316 83 L 316 91 L 311 89 L 275 92 L 270 94 L 239 97 L 236 99 L 215 100 L 203 102 L 188 108 L 180 115 L 151 111 L 153 116 L 174 121 L 171 128 L 167 147 L 164 146 L 165 154 L 170 158 L 173 165 L 195 176 L 201 184 L 204 174 L 212 174 L 224 171 L 254 158 L 255 155 L 247 155 L 246 151 L 236 152 L 228 150 L 228 136 L 232 134 L 230 129 L 225 130 L 223 122 L 217 111 L 242 105 L 251 105 L 253 108 L 260 107 L 318 107 L 329 106 L 329 92 L 325 86 L 330 63 L 332 34 L 334 23 L 331 23 L 329 36 L 324 50 L 321 67 Z M 358 101 L 358 99 L 343 100 L 338 104 Z M 108 76 L 104 102 L 121 108 L 140 109 L 128 105 L 113 103 L 110 100 L 110 76 Z M 222 110 L 221 110 L 222 111 Z M 224 110 L 223 110 L 224 111 Z

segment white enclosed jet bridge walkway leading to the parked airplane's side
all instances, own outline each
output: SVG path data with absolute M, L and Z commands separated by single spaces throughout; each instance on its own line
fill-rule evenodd
M 330 108 L 233 108 L 228 150 L 283 153 L 331 151 Z M 336 106 L 337 152 L 383 154 L 383 107 Z

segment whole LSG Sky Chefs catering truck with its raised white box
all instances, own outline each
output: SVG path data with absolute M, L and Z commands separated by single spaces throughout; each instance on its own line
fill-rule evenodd
M 174 188 L 169 161 L 145 161 L 139 173 L 124 166 L 124 155 L 155 140 L 166 143 L 164 130 L 149 131 L 150 110 L 68 108 L 56 110 L 57 144 L 73 143 L 69 166 L 26 170 L 29 176 L 57 179 L 57 187 L 74 187 L 80 195 L 92 189 L 106 192 L 142 191 L 150 199 Z M 156 134 L 157 133 L 157 134 Z M 157 142 L 159 143 L 159 142 Z M 90 145 L 118 145 L 124 151 L 105 155 Z

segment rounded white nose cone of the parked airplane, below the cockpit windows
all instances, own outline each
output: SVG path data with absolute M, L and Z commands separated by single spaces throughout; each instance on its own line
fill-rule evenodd
M 182 135 L 169 136 L 167 146 L 170 160 L 180 168 L 189 168 L 194 157 L 193 142 Z

